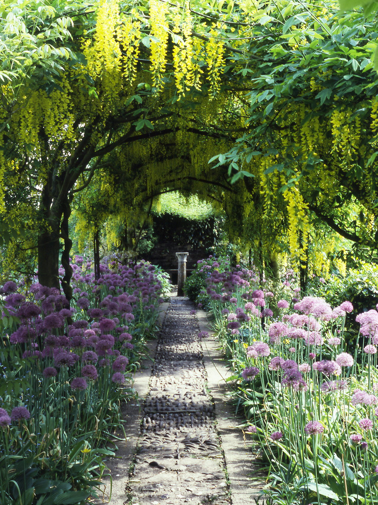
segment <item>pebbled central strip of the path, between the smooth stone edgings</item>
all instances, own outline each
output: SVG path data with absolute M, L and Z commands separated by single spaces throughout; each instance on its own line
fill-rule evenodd
M 230 503 L 193 304 L 172 298 L 156 347 L 141 436 L 128 481 L 140 505 Z

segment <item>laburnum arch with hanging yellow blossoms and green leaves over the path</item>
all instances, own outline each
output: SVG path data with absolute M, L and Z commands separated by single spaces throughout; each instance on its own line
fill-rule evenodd
M 235 235 L 256 250 L 288 242 L 298 269 L 310 254 L 324 261 L 308 248 L 313 216 L 376 246 L 372 25 L 352 33 L 335 7 L 322 6 L 225 2 L 209 12 L 200 3 L 110 0 L 95 4 L 95 25 L 84 13 L 72 32 L 75 57 L 52 82 L 22 88 L 0 133 L 2 211 L 30 230 L 22 246 L 37 247 L 40 282 L 59 287 L 62 238 L 70 297 L 68 219 L 82 191 L 90 216 L 95 181 L 125 219 L 138 199 L 185 184 L 223 205 Z M 1 91 L 11 102 L 13 88 Z M 117 177 L 128 181 L 122 206 Z M 348 213 L 358 215 L 352 231 Z M 17 246 L 11 241 L 9 260 Z

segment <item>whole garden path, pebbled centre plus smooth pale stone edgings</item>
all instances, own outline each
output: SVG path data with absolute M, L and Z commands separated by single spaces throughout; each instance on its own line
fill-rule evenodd
M 117 441 L 106 462 L 111 505 L 250 505 L 264 484 L 227 401 L 228 370 L 206 314 L 193 308 L 176 293 L 163 306 L 154 362 L 135 375 L 139 403 L 123 409 L 127 443 Z

